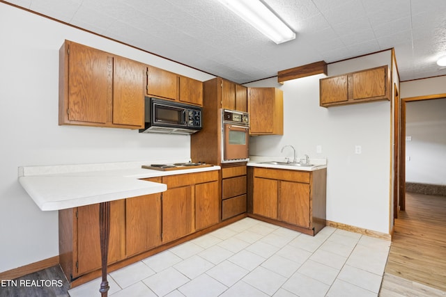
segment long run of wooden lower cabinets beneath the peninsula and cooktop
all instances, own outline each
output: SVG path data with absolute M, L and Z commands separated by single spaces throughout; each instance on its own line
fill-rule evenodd
M 108 264 L 220 223 L 219 171 L 144 179 L 164 193 L 112 201 Z M 59 261 L 69 282 L 100 271 L 99 204 L 59 211 Z

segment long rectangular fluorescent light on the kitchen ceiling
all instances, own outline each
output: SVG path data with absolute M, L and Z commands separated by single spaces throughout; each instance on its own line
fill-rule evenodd
M 277 45 L 295 39 L 295 33 L 259 0 L 218 1 L 254 26 L 263 35 L 276 42 Z

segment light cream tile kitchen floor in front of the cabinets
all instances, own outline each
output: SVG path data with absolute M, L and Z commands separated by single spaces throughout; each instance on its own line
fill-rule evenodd
M 109 296 L 378 296 L 389 249 L 333 227 L 308 236 L 244 218 L 109 273 Z M 99 287 L 98 278 L 68 293 L 100 296 Z

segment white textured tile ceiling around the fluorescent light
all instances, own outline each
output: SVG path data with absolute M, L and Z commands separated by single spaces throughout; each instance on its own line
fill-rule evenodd
M 264 0 L 297 34 L 276 45 L 216 0 L 11 0 L 238 83 L 394 48 L 401 81 L 446 75 L 446 0 Z

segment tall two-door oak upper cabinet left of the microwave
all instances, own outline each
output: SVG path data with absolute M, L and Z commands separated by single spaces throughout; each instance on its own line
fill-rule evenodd
M 68 40 L 59 61 L 59 125 L 144 127 L 144 65 Z

